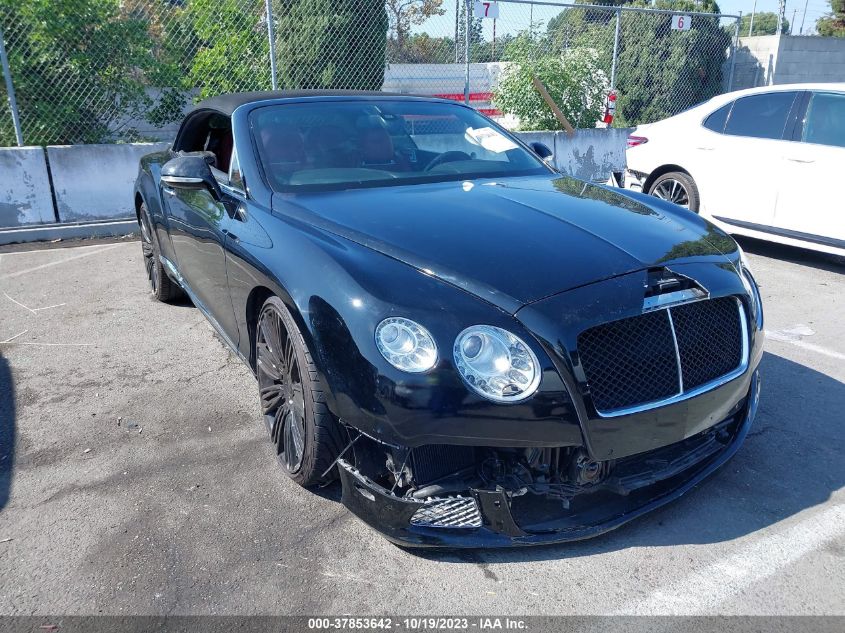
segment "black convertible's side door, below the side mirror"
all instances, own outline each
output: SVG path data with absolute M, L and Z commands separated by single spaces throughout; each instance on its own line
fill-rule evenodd
M 228 163 L 228 157 L 226 158 Z M 231 168 L 237 169 L 233 157 Z M 219 163 L 218 163 L 219 164 Z M 223 191 L 216 200 L 205 189 L 177 189 L 162 186 L 170 216 L 170 232 L 179 274 L 188 286 L 191 299 L 199 304 L 230 342 L 237 344 L 232 300 L 226 275 L 226 240 L 238 224 L 242 192 L 230 185 L 230 173 L 212 169 Z

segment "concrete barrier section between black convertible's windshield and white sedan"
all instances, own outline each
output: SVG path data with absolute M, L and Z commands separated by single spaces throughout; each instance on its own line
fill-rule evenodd
M 625 148 L 630 128 L 584 128 L 569 137 L 566 132 L 519 132 L 528 142 L 548 145 L 555 168 L 582 180 L 605 182 L 625 169 Z

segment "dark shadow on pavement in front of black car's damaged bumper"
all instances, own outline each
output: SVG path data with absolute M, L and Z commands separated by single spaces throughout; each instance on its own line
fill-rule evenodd
M 452 563 L 510 563 L 748 536 L 845 485 L 845 384 L 767 353 L 754 426 L 737 455 L 682 499 L 588 541 L 504 550 L 409 550 Z

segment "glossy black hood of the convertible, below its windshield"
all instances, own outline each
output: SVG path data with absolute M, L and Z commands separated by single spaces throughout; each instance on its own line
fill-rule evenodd
M 273 205 L 511 313 L 635 270 L 727 262 L 736 249 L 691 212 L 569 177 L 275 194 Z

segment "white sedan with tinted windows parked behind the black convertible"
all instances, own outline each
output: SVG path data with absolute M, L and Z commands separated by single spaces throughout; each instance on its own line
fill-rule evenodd
M 845 256 L 845 84 L 714 97 L 628 137 L 624 186 L 730 233 Z

